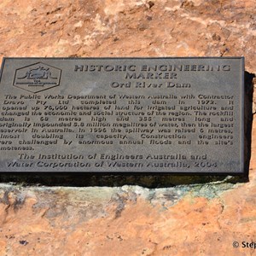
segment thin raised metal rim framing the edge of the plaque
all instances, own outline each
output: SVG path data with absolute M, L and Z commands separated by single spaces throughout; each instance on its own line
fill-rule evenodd
M 2 76 L 3 76 L 3 67 L 4 67 L 4 63 L 6 60 L 31 60 L 33 61 L 47 61 L 47 60 L 61 60 L 61 61 L 66 61 L 66 60 L 73 60 L 73 61 L 82 61 L 82 60 L 168 60 L 168 59 L 180 59 L 180 60 L 186 60 L 186 59 L 202 59 L 202 60 L 207 60 L 207 59 L 231 59 L 231 60 L 240 60 L 241 61 L 241 88 L 240 88 L 240 94 L 241 94 L 241 148 L 239 148 L 241 155 L 240 155 L 240 160 L 241 160 L 241 165 L 240 165 L 240 172 L 193 172 L 194 170 L 191 170 L 191 172 L 150 172 L 150 170 L 147 171 L 141 171 L 141 172 L 126 172 L 126 171 L 120 171 L 120 172 L 78 172 L 78 171 L 74 171 L 74 172 L 52 172 L 52 171 L 41 171 L 41 172 L 33 172 L 33 171 L 17 171 L 17 172 L 9 172 L 9 171 L 0 171 L 0 174 L 6 173 L 6 174 L 33 174 L 33 173 L 40 173 L 41 175 L 47 175 L 47 174 L 53 174 L 53 175 L 58 175 L 58 174 L 62 174 L 62 175 L 76 175 L 76 174 L 84 174 L 84 175 L 113 175 L 113 176 L 137 176 L 137 175 L 147 175 L 148 176 L 154 176 L 154 175 L 161 175 L 161 176 L 219 176 L 219 177 L 223 177 L 223 176 L 243 176 L 243 177 L 247 177 L 248 175 L 248 171 L 249 171 L 249 166 L 247 165 L 247 157 L 250 157 L 250 151 L 249 153 L 247 152 L 247 150 L 250 150 L 248 148 L 251 147 L 250 143 L 245 143 L 245 136 L 246 136 L 246 129 L 248 129 L 248 125 L 246 124 L 246 115 L 250 114 L 250 113 L 245 113 L 245 57 L 244 56 L 224 56 L 224 57 L 218 57 L 218 56 L 191 56 L 191 57 L 174 57 L 174 56 L 165 56 L 165 57 L 158 57 L 158 56 L 154 56 L 154 57 L 40 57 L 40 56 L 33 56 L 33 57 L 3 57 L 3 61 L 2 61 L 2 65 L 1 65 L 1 69 L 0 69 L 0 83 L 2 80 Z M 28 64 L 31 65 L 31 64 Z M 49 65 L 49 64 L 47 64 Z M 15 71 L 14 71 L 15 72 Z M 247 148 L 246 148 L 247 146 Z M 246 154 L 249 154 L 248 156 Z M 249 160 L 248 160 L 249 161 Z

